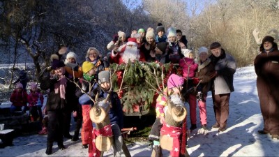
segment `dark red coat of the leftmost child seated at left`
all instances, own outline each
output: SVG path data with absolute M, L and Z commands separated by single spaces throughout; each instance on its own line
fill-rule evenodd
M 15 106 L 26 106 L 27 105 L 27 91 L 22 90 L 22 92 L 17 92 L 17 89 L 13 91 L 12 96 L 10 96 L 10 102 Z

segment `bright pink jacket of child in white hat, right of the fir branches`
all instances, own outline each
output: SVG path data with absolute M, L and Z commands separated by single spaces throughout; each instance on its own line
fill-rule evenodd
M 195 63 L 194 59 L 184 57 L 180 59 L 179 66 L 182 68 L 182 75 L 186 79 L 187 77 L 195 77 L 195 72 L 199 65 Z

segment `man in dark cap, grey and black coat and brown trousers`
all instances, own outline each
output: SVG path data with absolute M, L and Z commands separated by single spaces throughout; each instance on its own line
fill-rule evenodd
M 211 78 L 213 78 L 212 98 L 216 124 L 212 128 L 218 128 L 218 131 L 225 131 L 229 117 L 229 97 L 231 92 L 234 91 L 233 81 L 236 61 L 234 61 L 234 57 L 223 50 L 218 42 L 212 43 L 210 50 L 212 54 L 209 58 L 215 68 Z

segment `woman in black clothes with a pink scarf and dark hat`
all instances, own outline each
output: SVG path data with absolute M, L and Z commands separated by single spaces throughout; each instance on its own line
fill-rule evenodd
M 52 145 L 54 140 L 57 142 L 59 149 L 65 149 L 63 145 L 63 132 L 66 123 L 66 116 L 68 110 L 68 102 L 71 93 L 69 81 L 66 79 L 68 73 L 64 68 L 63 61 L 54 59 L 52 61 L 52 69 L 54 74 L 50 77 L 50 84 L 47 89 L 50 93 L 47 98 L 46 110 L 48 115 L 47 126 L 47 150 L 45 154 L 52 154 Z M 43 89 L 46 90 L 46 89 Z

